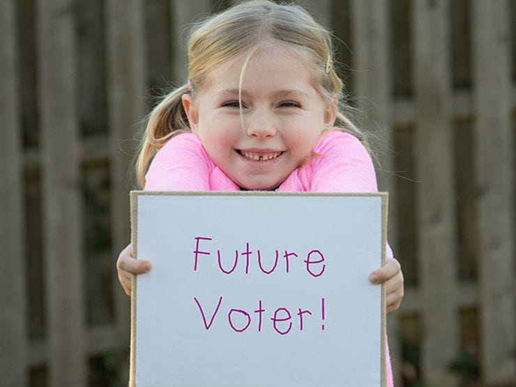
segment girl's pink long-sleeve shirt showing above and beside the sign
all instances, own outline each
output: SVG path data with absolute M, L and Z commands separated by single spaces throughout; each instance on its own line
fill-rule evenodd
M 146 191 L 240 191 L 206 153 L 199 137 L 178 134 L 156 153 L 145 177 Z M 296 168 L 276 191 L 377 192 L 371 157 L 362 143 L 334 130 L 321 137 L 314 155 Z M 387 245 L 386 255 L 393 257 Z M 386 345 L 387 386 L 393 386 Z

